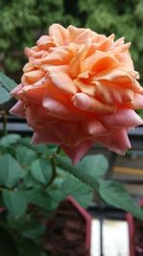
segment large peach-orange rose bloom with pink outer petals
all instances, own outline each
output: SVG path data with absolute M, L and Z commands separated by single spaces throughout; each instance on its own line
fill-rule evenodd
M 95 142 L 128 150 L 128 130 L 143 124 L 133 110 L 143 107 L 143 88 L 129 47 L 114 35 L 53 24 L 26 48 L 29 62 L 11 92 L 19 101 L 10 113 L 26 117 L 31 143 L 59 144 L 73 163 Z

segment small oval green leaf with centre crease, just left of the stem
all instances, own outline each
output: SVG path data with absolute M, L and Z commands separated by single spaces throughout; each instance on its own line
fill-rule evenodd
M 48 184 L 51 180 L 52 170 L 48 160 L 41 158 L 31 164 L 32 177 L 42 184 Z

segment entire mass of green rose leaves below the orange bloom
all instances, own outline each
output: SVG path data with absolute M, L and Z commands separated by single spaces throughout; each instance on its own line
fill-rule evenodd
M 94 190 L 107 203 L 143 220 L 142 210 L 122 185 L 104 179 L 108 162 L 103 155 L 88 155 L 72 166 L 63 152 L 56 154 L 55 147 L 31 149 L 30 139 L 16 134 L 2 137 L 0 146 L 0 229 L 2 226 L 6 232 L 1 242 L 5 244 L 9 237 L 15 255 L 25 255 L 25 244 L 30 256 L 35 248 L 40 255 L 46 231 L 43 220 L 51 218 L 59 202 L 69 195 L 87 207 Z M 9 246 L 5 250 L 9 255 Z

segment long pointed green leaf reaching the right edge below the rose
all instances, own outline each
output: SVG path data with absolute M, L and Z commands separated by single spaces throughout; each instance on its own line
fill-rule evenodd
M 131 197 L 122 184 L 112 180 L 99 180 L 99 194 L 109 204 L 130 212 L 143 221 L 143 209 Z

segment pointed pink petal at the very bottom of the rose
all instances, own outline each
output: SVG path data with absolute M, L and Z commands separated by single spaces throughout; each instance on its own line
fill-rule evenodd
M 61 145 L 63 151 L 72 158 L 72 164 L 75 165 L 83 156 L 84 154 L 90 150 L 92 147 L 92 141 L 86 140 L 80 143 L 78 146 L 74 148 L 70 148 L 66 145 Z

